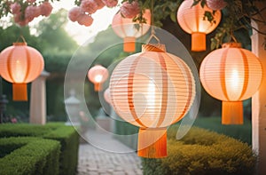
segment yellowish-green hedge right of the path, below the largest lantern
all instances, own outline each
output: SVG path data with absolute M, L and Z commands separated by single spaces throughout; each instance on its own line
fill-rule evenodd
M 144 174 L 253 174 L 256 156 L 246 143 L 192 127 L 176 140 L 176 126 L 168 130 L 168 157 L 142 158 Z

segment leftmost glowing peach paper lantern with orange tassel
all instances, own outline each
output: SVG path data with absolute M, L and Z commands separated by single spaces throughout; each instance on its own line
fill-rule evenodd
M 13 100 L 27 100 L 27 83 L 43 71 L 43 56 L 27 43 L 14 43 L 0 53 L 1 76 L 12 83 Z

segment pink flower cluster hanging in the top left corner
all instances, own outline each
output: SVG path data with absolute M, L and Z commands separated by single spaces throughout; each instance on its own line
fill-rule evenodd
M 14 22 L 26 26 L 40 15 L 48 17 L 52 6 L 48 1 L 37 3 L 36 0 L 20 0 L 10 4 L 10 10 L 14 15 Z

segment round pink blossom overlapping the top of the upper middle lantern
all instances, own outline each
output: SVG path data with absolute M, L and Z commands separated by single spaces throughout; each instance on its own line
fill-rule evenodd
M 131 19 L 137 16 L 140 12 L 140 8 L 137 1 L 133 1 L 131 4 L 129 2 L 125 2 L 121 5 L 120 12 L 123 17 Z

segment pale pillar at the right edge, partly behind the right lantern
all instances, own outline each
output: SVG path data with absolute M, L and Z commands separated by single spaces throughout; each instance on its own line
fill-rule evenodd
M 265 4 L 257 4 L 262 8 Z M 266 12 L 262 16 L 266 17 Z M 254 28 L 266 31 L 266 25 L 252 22 Z M 263 80 L 259 91 L 252 98 L 252 147 L 258 154 L 256 174 L 266 174 L 266 51 L 263 48 L 264 36 L 253 30 L 252 52 L 262 61 Z

